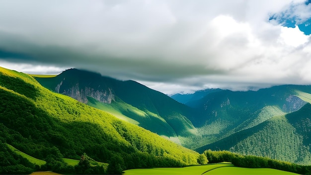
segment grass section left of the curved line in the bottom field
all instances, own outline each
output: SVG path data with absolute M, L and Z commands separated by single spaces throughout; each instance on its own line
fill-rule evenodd
M 220 163 L 184 168 L 133 169 L 124 171 L 125 174 L 123 175 L 202 175 L 203 173 L 213 169 L 231 166 L 233 166 L 231 163 Z

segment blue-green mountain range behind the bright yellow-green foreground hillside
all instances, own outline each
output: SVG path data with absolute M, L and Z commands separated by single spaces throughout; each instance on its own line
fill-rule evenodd
M 134 81 L 119 81 L 77 69 L 36 80 L 44 87 L 199 153 L 207 149 L 230 150 L 304 165 L 311 163 L 311 116 L 300 116 L 310 102 L 311 86 L 284 85 L 257 91 L 216 88 L 169 97 Z M 292 115 L 295 117 L 289 117 Z M 284 134 L 286 138 L 280 139 Z

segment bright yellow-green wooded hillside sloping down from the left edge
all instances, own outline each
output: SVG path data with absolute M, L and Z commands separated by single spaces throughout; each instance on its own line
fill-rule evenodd
M 46 161 L 48 170 L 61 168 L 62 158 L 77 160 L 83 153 L 123 170 L 192 165 L 199 156 L 142 127 L 52 92 L 26 74 L 0 68 L 0 171 L 31 167 L 5 143 Z

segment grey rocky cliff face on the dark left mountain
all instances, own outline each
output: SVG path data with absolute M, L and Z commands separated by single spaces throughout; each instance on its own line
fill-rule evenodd
M 77 99 L 82 103 L 87 103 L 87 96 L 90 96 L 100 102 L 111 103 L 115 99 L 115 94 L 111 88 L 103 89 L 94 89 L 92 87 L 79 87 L 79 84 L 62 89 L 61 86 L 63 81 L 55 87 L 55 91 L 62 93 L 64 95 L 70 96 Z

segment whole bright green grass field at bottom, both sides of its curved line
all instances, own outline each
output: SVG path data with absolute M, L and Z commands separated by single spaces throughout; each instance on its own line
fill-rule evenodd
M 123 175 L 297 175 L 275 169 L 248 169 L 220 163 L 184 168 L 133 169 Z

